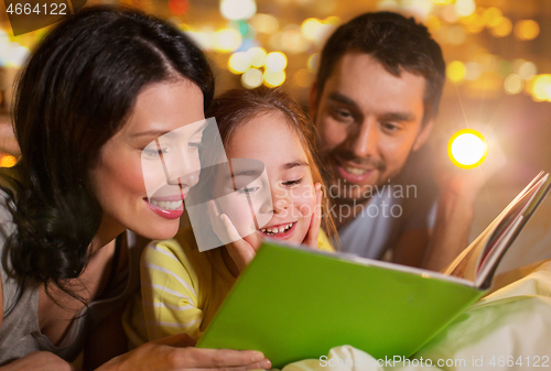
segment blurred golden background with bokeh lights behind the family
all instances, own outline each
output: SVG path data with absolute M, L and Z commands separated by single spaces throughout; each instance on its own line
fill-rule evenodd
M 551 171 L 550 0 L 88 0 L 87 6 L 99 3 L 138 8 L 188 33 L 212 61 L 217 92 L 282 86 L 304 107 L 318 53 L 336 26 L 366 11 L 414 17 L 446 61 L 444 96 L 429 143 L 434 156 L 449 161 L 447 140 L 457 130 L 488 128 L 491 138 L 480 132 L 507 157 L 480 194 L 472 239 L 540 170 Z M 13 37 L 0 3 L 0 129 L 10 122 L 13 78 L 45 32 Z M 13 162 L 0 153 L 0 166 Z M 539 212 L 547 225 L 523 232 L 528 241 L 522 243 L 548 249 L 537 234 L 550 234 L 551 241 L 551 207 Z

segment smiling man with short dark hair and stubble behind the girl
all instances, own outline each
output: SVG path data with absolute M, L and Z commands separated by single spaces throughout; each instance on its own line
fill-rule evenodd
M 441 269 L 466 245 L 472 210 L 447 190 L 439 203 L 440 230 L 430 241 L 437 193 L 420 150 L 444 79 L 437 43 L 426 28 L 400 14 L 359 15 L 327 41 L 310 113 L 344 251 L 372 259 L 391 252 L 397 263 Z M 456 245 L 440 251 L 450 240 Z

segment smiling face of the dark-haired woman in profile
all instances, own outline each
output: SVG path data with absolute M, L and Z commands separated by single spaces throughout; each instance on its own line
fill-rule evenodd
M 147 86 L 127 123 L 104 144 L 90 172 L 102 208 L 100 231 L 172 238 L 182 200 L 198 181 L 203 92 L 187 79 Z

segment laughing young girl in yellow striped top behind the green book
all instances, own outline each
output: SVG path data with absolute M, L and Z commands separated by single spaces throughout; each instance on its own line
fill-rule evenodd
M 335 234 L 326 201 L 322 201 L 322 177 L 313 151 L 315 130 L 300 106 L 279 90 L 230 90 L 213 102 L 207 114 L 217 120 L 230 162 L 251 159 L 266 166 L 272 216 L 242 239 L 227 214 L 215 216 L 213 223 L 219 218 L 235 241 L 218 249 L 199 252 L 187 228 L 144 250 L 142 297 L 150 340 L 180 332 L 197 340 L 263 237 L 333 250 L 320 230 L 322 225 L 331 237 Z M 201 178 L 208 182 L 208 176 Z M 256 188 L 249 186 L 246 192 Z M 316 208 L 323 218 L 314 212 Z

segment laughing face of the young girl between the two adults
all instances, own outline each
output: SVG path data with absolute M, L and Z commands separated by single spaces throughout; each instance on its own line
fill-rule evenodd
M 261 219 L 259 214 L 271 211 L 273 215 L 268 222 L 261 223 L 257 232 L 272 239 L 302 243 L 315 207 L 315 189 L 306 153 L 283 116 L 268 112 L 240 126 L 231 137 L 226 153 L 228 159 L 253 159 L 266 166 L 271 210 L 262 210 L 260 206 L 256 210 L 257 220 Z M 242 197 L 248 194 L 253 199 L 256 193 L 262 192 L 261 187 L 261 182 L 252 182 L 238 194 L 240 192 Z M 239 208 L 250 214 L 250 209 L 242 205 Z

